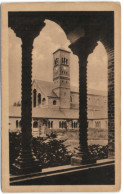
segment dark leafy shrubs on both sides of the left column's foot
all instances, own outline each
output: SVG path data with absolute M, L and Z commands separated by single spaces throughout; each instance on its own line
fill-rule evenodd
M 53 167 L 70 164 L 71 155 L 64 145 L 65 140 L 57 140 L 56 134 L 32 138 L 32 149 L 35 156 L 40 160 L 42 167 Z M 10 167 L 18 157 L 21 149 L 21 134 L 9 133 L 10 143 Z

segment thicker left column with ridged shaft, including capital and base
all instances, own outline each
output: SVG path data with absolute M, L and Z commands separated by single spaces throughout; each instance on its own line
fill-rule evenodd
M 11 173 L 28 174 L 41 171 L 41 164 L 31 148 L 32 139 L 32 49 L 34 38 L 44 27 L 40 17 L 32 15 L 9 15 L 9 27 L 22 40 L 22 141 L 18 158 Z

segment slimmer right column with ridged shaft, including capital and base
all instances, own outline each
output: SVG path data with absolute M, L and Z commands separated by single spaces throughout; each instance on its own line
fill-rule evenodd
M 95 162 L 88 151 L 87 136 L 87 58 L 97 45 L 97 41 L 81 38 L 70 45 L 79 58 L 79 152 L 71 158 L 72 165 Z

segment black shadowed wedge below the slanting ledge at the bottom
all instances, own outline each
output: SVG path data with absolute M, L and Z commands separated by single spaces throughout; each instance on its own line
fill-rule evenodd
M 114 164 L 21 180 L 10 185 L 114 185 Z

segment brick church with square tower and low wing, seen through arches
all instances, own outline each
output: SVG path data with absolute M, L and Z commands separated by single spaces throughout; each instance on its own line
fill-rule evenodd
M 88 128 L 108 128 L 107 93 L 88 89 Z M 11 106 L 9 130 L 21 130 L 21 107 Z M 32 134 L 79 129 L 79 88 L 70 84 L 70 52 L 53 53 L 53 82 L 33 80 Z

